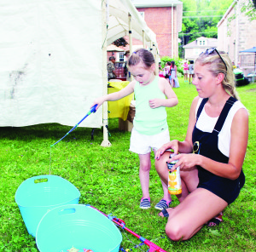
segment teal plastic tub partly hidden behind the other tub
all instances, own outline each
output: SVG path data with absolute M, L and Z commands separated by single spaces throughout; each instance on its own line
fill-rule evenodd
M 55 175 L 39 175 L 21 183 L 15 201 L 25 222 L 27 232 L 36 236 L 42 217 L 57 206 L 78 204 L 80 192 L 67 180 Z

